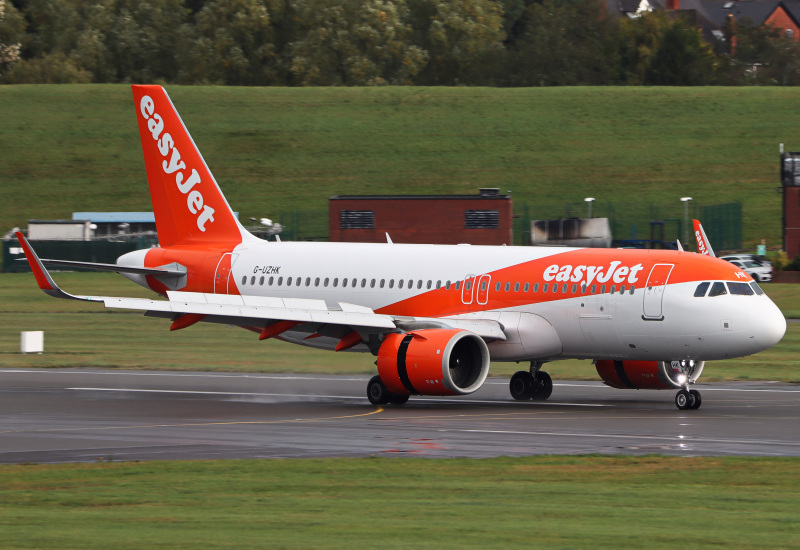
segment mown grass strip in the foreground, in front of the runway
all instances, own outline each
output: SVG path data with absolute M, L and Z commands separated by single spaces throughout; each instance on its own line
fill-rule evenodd
M 800 461 L 1 466 L 12 548 L 797 548 Z

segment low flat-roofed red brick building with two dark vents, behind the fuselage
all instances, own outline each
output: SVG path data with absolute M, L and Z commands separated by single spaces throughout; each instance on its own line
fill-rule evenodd
M 342 242 L 512 243 L 510 195 L 338 195 L 328 202 L 329 238 Z

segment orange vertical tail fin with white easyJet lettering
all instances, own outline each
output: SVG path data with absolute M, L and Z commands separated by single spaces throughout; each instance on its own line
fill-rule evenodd
M 132 86 L 161 246 L 241 243 L 239 224 L 161 86 Z

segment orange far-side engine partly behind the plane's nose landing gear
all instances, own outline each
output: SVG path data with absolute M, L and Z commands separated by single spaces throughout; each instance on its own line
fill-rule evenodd
M 705 361 L 613 361 L 595 363 L 607 386 L 622 390 L 672 390 L 700 378 Z

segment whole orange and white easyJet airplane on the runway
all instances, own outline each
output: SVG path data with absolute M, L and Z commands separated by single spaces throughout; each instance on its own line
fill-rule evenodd
M 40 260 L 18 238 L 44 292 L 171 320 L 236 325 L 259 339 L 369 352 L 374 404 L 410 395 L 465 395 L 490 361 L 530 362 L 511 396 L 544 400 L 541 367 L 595 361 L 615 388 L 689 389 L 705 361 L 742 357 L 780 341 L 786 321 L 753 279 L 713 257 L 668 250 L 267 242 L 231 211 L 167 93 L 133 86 L 160 248 L 116 264 Z M 43 264 L 121 273 L 161 299 L 74 296 Z M 166 299 L 164 299 L 166 298 Z M 256 336 L 254 335 L 254 338 Z

